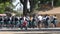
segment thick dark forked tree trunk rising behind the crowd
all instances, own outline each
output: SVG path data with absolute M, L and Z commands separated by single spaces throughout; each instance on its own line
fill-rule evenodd
M 34 11 L 34 7 L 35 7 L 35 0 L 29 0 L 30 2 L 30 11 L 28 11 L 27 9 L 27 0 L 20 0 L 21 3 L 23 4 L 23 15 L 26 15 L 27 13 L 31 14 Z

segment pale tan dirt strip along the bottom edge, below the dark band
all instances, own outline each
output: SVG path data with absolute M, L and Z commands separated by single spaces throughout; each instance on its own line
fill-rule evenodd
M 0 32 L 0 34 L 59 34 L 60 32 L 54 31 L 29 31 L 29 32 Z

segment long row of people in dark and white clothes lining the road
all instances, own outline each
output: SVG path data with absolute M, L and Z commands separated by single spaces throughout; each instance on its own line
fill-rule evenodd
M 56 27 L 56 15 L 0 16 L 0 27 L 49 28 L 51 23 Z

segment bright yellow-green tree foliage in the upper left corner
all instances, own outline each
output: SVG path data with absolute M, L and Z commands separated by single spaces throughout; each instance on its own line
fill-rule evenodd
M 0 13 L 5 12 L 5 7 L 11 5 L 11 0 L 0 0 Z

